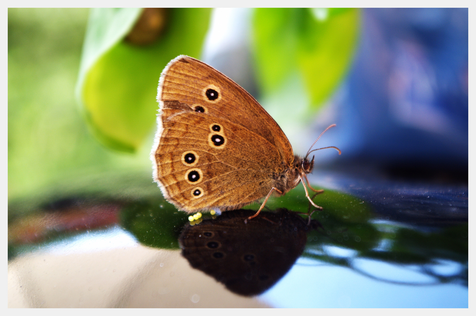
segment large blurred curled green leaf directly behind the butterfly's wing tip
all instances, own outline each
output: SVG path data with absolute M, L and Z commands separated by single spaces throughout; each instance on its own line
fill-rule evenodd
M 165 28 L 149 45 L 124 39 L 141 10 L 93 9 L 77 98 L 91 129 L 110 148 L 134 152 L 155 123 L 162 69 L 180 54 L 198 57 L 209 9 L 167 9 Z

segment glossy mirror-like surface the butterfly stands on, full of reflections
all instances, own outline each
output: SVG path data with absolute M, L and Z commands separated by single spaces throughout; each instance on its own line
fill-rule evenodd
M 324 210 L 312 215 L 310 226 L 307 226 L 307 216 L 291 213 L 283 217 L 284 211 L 279 210 L 277 213 L 264 211 L 256 218 L 257 221 L 247 225 L 240 221 L 240 217 L 249 216 L 252 211 L 230 211 L 213 216 L 215 219 L 204 214 L 201 219 L 189 222 L 188 215 L 177 212 L 160 198 L 139 202 L 109 201 L 103 204 L 93 200 L 87 202 L 86 199 L 63 200 L 51 204 L 54 209 L 50 206 L 49 210 L 40 211 L 44 216 L 49 216 L 50 223 L 51 218 L 55 216 L 58 221 L 58 218 L 63 218 L 61 227 L 48 228 L 46 225 L 42 238 L 28 239 L 24 234 L 28 229 L 20 229 L 25 227 L 26 222 L 30 222 L 30 230 L 31 227 L 40 227 L 40 213 L 37 213 L 36 217 L 17 218 L 10 222 L 10 271 L 22 275 L 25 272 L 22 272 L 19 265 L 25 266 L 25 262 L 28 263 L 39 256 L 56 254 L 56 258 L 62 257 L 66 260 L 68 273 L 75 271 L 76 277 L 81 277 L 85 271 L 88 271 L 88 274 L 93 273 L 95 268 L 84 269 L 80 260 L 68 261 L 68 258 L 77 256 L 78 253 L 94 256 L 99 251 L 106 259 L 106 263 L 99 264 L 100 271 L 103 271 L 127 261 L 131 256 L 130 249 L 137 251 L 137 247 L 143 245 L 146 246 L 144 249 L 157 249 L 157 254 L 166 251 L 161 249 L 170 249 L 172 253 L 181 252 L 189 263 L 182 263 L 183 257 L 174 257 L 176 259 L 169 265 L 182 267 L 182 273 L 194 267 L 196 269 L 190 270 L 196 271 L 193 272 L 194 275 L 201 274 L 209 280 L 207 282 L 218 288 L 213 290 L 214 293 L 210 293 L 205 287 L 211 285 L 205 286 L 201 282 L 204 286 L 202 292 L 194 289 L 198 296 L 193 296 L 195 294 L 189 288 L 193 287 L 192 285 L 179 281 L 173 283 L 174 279 L 169 275 L 156 277 L 155 283 L 169 280 L 168 286 L 164 288 L 179 286 L 179 292 L 190 292 L 189 297 L 183 296 L 185 301 L 175 302 L 176 305 L 173 305 L 168 303 L 167 299 L 160 299 L 172 295 L 173 290 L 169 289 L 167 292 L 159 285 L 150 285 L 142 291 L 162 291 L 167 292 L 167 295 L 147 296 L 149 299 L 142 301 L 141 306 L 230 306 L 227 304 L 244 297 L 250 297 L 248 300 L 256 302 L 249 304 L 276 307 L 467 306 L 468 210 L 465 186 L 363 180 L 344 177 L 342 173 L 330 171 L 321 172 L 320 177 L 313 177 L 311 181 L 316 184 L 325 182 L 333 189 L 326 188 L 325 193 L 314 199 Z M 304 191 L 298 188 L 285 197 L 274 198 L 268 202 L 270 209 L 276 209 L 278 206 L 304 213 L 308 210 Z M 82 222 L 76 219 L 76 226 L 73 217 L 67 216 L 68 209 L 72 207 L 84 212 L 81 216 Z M 257 207 L 258 204 L 250 206 L 255 209 Z M 102 211 L 98 212 L 98 209 Z M 75 214 L 74 218 L 77 218 L 78 211 Z M 100 218 L 105 218 L 105 214 L 111 214 L 106 217 L 109 218 L 106 227 L 112 227 L 91 229 L 94 220 L 99 226 L 104 225 L 104 219 L 101 222 Z M 87 218 L 89 223 L 84 224 Z M 65 223 L 70 223 L 69 229 Z M 113 228 L 117 225 L 125 230 Z M 200 236 L 201 230 L 211 232 L 215 236 L 212 239 L 216 244 L 209 246 L 216 248 L 210 248 L 206 243 L 201 245 L 200 240 L 204 237 Z M 19 233 L 17 239 L 14 239 L 15 231 L 22 231 L 23 235 Z M 283 236 L 286 238 L 283 239 Z M 223 248 L 225 246 L 226 249 Z M 113 249 L 118 247 L 124 249 L 125 257 L 116 258 L 112 263 L 107 258 L 114 257 L 111 254 Z M 224 256 L 213 257 L 217 249 L 221 249 Z M 283 254 L 287 255 L 276 257 Z M 166 257 L 171 258 L 170 256 Z M 228 256 L 226 260 L 220 261 L 225 256 Z M 207 261 L 204 257 L 212 260 Z M 297 257 L 299 258 L 293 264 Z M 214 265 L 213 261 L 217 260 L 221 263 Z M 140 256 L 137 261 L 138 264 L 142 262 Z M 249 262 L 255 262 L 254 266 Z M 156 269 L 160 268 L 158 265 Z M 174 273 L 177 273 L 177 270 L 175 271 Z M 53 272 L 48 272 L 48 275 Z M 61 271 L 57 273 L 61 274 Z M 237 274 L 239 277 L 236 277 Z M 141 285 L 146 282 L 144 280 L 152 280 L 152 275 L 154 273 L 149 271 L 140 275 L 141 277 L 128 279 L 120 286 L 123 286 L 123 290 L 142 288 Z M 263 283 L 263 280 L 258 281 L 259 277 L 263 279 L 265 275 L 271 277 L 271 280 L 266 280 L 267 284 L 257 287 L 256 284 Z M 40 288 L 47 287 L 42 285 L 48 283 L 47 275 L 40 276 L 39 279 L 31 276 L 30 278 L 32 282 L 38 282 Z M 240 283 L 240 279 L 246 282 Z M 249 282 L 251 280 L 255 282 Z M 22 282 L 25 282 L 25 277 L 20 277 L 18 284 Z M 102 282 L 107 288 L 111 280 L 106 277 Z M 268 289 L 269 286 L 271 287 Z M 199 284 L 198 289 L 200 288 Z M 46 289 L 42 288 L 42 291 Z M 214 296 L 217 291 L 224 291 L 225 296 L 231 295 L 227 298 L 227 304 L 207 299 L 208 295 Z M 79 299 L 80 292 L 79 290 L 70 297 L 76 295 Z M 263 293 L 259 294 L 261 292 Z M 113 293 L 109 293 L 108 297 L 114 296 Z M 137 300 L 134 301 L 130 297 L 128 299 L 129 301 L 122 298 L 123 305 L 118 303 L 119 305 L 112 306 L 139 304 Z M 53 298 L 51 300 L 54 301 Z M 48 300 L 45 302 L 50 304 L 49 306 L 56 304 Z M 111 306 L 104 302 L 101 304 Z

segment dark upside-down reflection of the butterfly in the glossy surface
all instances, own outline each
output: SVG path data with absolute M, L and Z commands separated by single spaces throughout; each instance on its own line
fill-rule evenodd
M 292 267 L 306 245 L 308 230 L 317 222 L 287 209 L 260 214 L 252 210 L 224 212 L 199 225 L 186 225 L 179 237 L 182 255 L 190 265 L 230 291 L 257 295 L 273 286 Z

